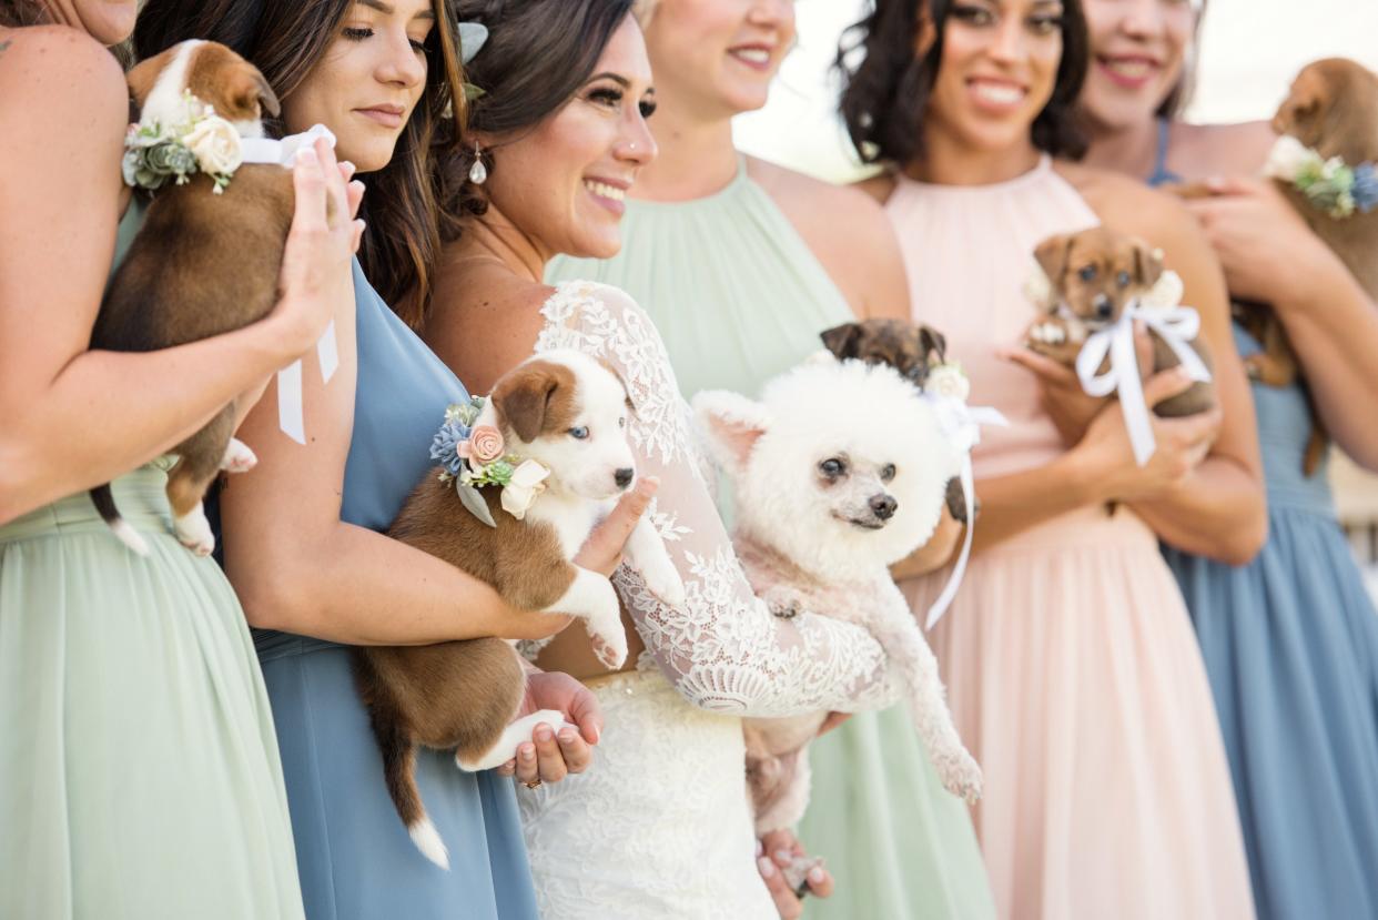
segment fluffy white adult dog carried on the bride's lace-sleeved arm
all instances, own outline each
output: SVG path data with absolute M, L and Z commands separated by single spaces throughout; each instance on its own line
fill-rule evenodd
M 977 799 L 980 768 L 962 746 L 937 661 L 889 574 L 933 535 L 960 466 L 929 403 L 892 367 L 827 357 L 769 382 L 761 401 L 704 392 L 695 411 L 734 481 L 733 543 L 752 588 L 779 615 L 809 610 L 875 636 L 943 785 Z M 825 717 L 744 721 L 759 833 L 803 815 L 805 749 Z

